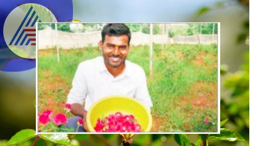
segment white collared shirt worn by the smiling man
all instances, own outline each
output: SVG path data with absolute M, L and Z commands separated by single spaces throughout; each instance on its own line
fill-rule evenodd
M 67 103 L 83 105 L 85 101 L 85 110 L 88 111 L 93 103 L 110 95 L 137 99 L 148 109 L 153 106 L 145 72 L 139 65 L 125 60 L 123 73 L 114 77 L 106 68 L 103 56 L 81 62 L 76 70 Z

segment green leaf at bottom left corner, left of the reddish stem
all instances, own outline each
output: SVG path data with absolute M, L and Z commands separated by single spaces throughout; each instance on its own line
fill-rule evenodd
M 18 133 L 12 136 L 12 138 L 6 143 L 6 145 L 19 144 L 35 136 L 36 131 L 33 129 L 20 130 Z

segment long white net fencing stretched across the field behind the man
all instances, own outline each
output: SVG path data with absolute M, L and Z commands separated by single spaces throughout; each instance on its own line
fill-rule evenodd
M 101 32 L 68 33 L 58 31 L 58 39 L 55 30 L 51 28 L 38 31 L 38 49 L 50 49 L 58 44 L 62 49 L 82 48 L 87 46 L 97 47 L 101 40 Z M 211 44 L 217 43 L 217 34 L 197 34 L 192 36 L 153 35 L 153 43 L 156 44 Z M 132 33 L 131 45 L 149 45 L 149 34 Z

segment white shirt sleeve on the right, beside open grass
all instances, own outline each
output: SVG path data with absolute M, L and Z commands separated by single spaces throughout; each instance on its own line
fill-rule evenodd
M 142 74 L 139 77 L 140 78 L 140 84 L 135 92 L 134 98 L 139 100 L 148 108 L 150 111 L 150 107 L 153 106 L 153 103 L 151 101 L 150 95 L 148 93 L 148 87 L 147 87 L 147 79 L 144 70 L 142 70 Z

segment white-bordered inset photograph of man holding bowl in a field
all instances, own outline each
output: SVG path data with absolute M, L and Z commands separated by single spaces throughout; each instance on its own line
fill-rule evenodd
M 217 133 L 219 24 L 37 23 L 37 132 Z

